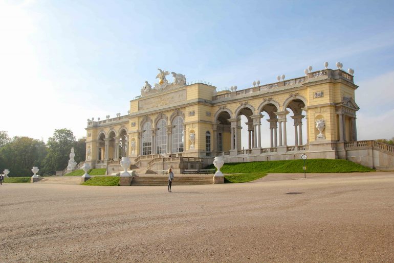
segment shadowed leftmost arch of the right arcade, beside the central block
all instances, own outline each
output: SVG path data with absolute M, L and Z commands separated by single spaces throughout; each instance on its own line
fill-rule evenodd
M 227 152 L 231 149 L 231 125 L 228 121 L 231 118 L 227 111 L 222 111 L 216 118 L 216 149 L 218 152 Z

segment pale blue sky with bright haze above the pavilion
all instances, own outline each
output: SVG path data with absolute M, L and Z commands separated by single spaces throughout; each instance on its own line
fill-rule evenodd
M 393 13 L 392 1 L 0 0 L 0 130 L 84 136 L 87 118 L 126 114 L 157 68 L 220 90 L 340 61 L 360 86 L 359 139 L 391 138 Z

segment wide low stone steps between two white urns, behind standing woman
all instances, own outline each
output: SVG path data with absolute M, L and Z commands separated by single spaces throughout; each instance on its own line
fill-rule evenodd
M 167 176 L 144 176 L 133 177 L 132 186 L 154 186 L 167 185 Z M 190 185 L 190 184 L 213 184 L 213 176 L 182 176 L 176 177 L 172 185 Z

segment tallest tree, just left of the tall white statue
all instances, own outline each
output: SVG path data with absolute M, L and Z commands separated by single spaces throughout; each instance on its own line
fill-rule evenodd
M 54 175 L 56 171 L 67 168 L 70 150 L 75 145 L 75 136 L 71 130 L 57 129 L 48 139 L 48 154 L 43 162 L 45 175 Z

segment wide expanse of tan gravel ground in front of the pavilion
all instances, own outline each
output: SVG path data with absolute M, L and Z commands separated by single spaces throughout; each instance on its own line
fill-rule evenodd
M 0 261 L 394 262 L 394 173 L 302 177 L 4 184 Z

